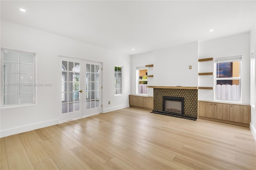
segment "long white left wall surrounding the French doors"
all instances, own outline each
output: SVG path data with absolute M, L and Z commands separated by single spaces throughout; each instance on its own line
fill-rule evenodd
M 52 83 L 51 87 L 37 88 L 37 105 L 0 109 L 1 137 L 57 124 L 61 107 L 58 101 L 60 84 L 56 78 L 58 55 L 102 62 L 102 112 L 129 107 L 130 55 L 6 20 L 1 20 L 1 47 L 36 53 L 37 82 Z M 114 95 L 114 65 L 123 67 L 123 95 Z M 111 101 L 110 105 L 108 101 Z

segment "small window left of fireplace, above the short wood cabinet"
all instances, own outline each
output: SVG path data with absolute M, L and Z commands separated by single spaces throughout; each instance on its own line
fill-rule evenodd
M 148 94 L 147 84 L 148 84 L 148 70 L 139 69 L 138 71 L 138 94 Z

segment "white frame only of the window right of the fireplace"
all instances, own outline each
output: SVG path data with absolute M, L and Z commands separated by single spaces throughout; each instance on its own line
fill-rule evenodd
M 239 61 L 239 77 L 221 77 L 221 78 L 216 77 L 217 63 L 227 63 L 227 62 L 234 62 L 234 61 Z M 239 80 L 239 100 L 216 99 L 217 80 Z M 242 102 L 242 55 L 214 59 L 214 101 L 234 102 L 234 103 Z

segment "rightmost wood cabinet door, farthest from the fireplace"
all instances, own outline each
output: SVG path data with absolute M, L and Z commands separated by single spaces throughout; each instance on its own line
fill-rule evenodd
M 248 106 L 230 105 L 230 121 L 248 124 Z

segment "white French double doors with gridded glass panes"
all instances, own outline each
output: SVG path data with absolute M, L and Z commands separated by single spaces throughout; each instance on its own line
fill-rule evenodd
M 58 122 L 101 112 L 101 63 L 60 57 L 61 111 Z

